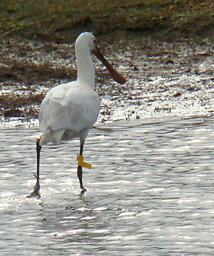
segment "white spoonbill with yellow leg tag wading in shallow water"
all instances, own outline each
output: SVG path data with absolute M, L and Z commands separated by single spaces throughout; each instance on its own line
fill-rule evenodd
M 80 155 L 77 156 L 77 176 L 82 192 L 83 167 L 91 165 L 83 162 L 83 146 L 89 130 L 99 115 L 100 102 L 94 91 L 94 68 L 91 53 L 107 67 L 112 78 L 118 83 L 126 83 L 126 79 L 113 69 L 104 59 L 95 45 L 95 37 L 84 32 L 77 37 L 75 54 L 77 58 L 77 80 L 63 83 L 50 89 L 41 104 L 39 124 L 42 135 L 37 138 L 37 183 L 29 197 L 39 197 L 39 159 L 40 151 L 46 143 L 59 144 L 61 140 L 80 138 Z

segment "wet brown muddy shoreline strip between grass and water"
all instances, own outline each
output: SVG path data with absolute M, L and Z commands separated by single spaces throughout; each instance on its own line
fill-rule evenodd
M 102 102 L 99 122 L 172 116 L 212 116 L 214 64 L 212 39 L 164 42 L 152 37 L 121 37 L 98 45 L 127 78 L 118 85 L 102 64 L 96 91 Z M 0 45 L 1 124 L 37 120 L 46 92 L 74 80 L 74 44 L 8 39 Z

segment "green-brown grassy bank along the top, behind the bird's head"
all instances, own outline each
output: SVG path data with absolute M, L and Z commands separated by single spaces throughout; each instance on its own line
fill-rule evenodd
M 74 40 L 78 32 L 142 31 L 177 37 L 210 33 L 213 0 L 1 0 L 0 39 Z M 74 33 L 72 33 L 72 31 Z

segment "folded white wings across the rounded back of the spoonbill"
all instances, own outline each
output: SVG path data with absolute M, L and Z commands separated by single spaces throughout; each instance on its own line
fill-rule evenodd
M 99 98 L 88 86 L 62 84 L 51 89 L 42 101 L 40 129 L 69 129 L 80 132 L 90 129 L 99 115 Z

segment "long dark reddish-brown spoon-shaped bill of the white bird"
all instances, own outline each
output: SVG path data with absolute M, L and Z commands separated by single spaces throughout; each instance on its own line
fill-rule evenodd
M 112 65 L 104 59 L 104 56 L 100 52 L 99 48 L 96 46 L 96 48 L 93 48 L 91 52 L 100 60 L 102 63 L 107 67 L 108 71 L 110 72 L 112 78 L 118 82 L 118 83 L 126 83 L 126 78 L 123 77 L 123 75 L 120 75 L 113 67 Z

